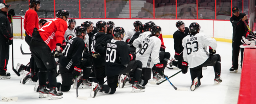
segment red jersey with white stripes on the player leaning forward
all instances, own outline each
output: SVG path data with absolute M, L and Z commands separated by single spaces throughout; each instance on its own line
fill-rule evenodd
M 68 29 L 68 24 L 61 18 L 49 20 L 38 31 L 44 42 L 54 50 L 56 45 L 62 45 L 65 31 Z

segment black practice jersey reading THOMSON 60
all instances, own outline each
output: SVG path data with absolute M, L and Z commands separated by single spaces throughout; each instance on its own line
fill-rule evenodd
M 106 76 L 113 76 L 125 69 L 130 62 L 127 43 L 120 40 L 106 42 Z

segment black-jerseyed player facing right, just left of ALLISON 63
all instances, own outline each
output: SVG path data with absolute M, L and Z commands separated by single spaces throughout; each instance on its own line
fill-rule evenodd
M 183 61 L 183 49 L 184 49 L 184 47 L 182 46 L 182 40 L 185 36 L 190 35 L 190 32 L 188 27 L 185 27 L 185 23 L 180 20 L 176 22 L 176 27 L 178 28 L 178 30 L 173 34 L 174 50 L 175 50 L 174 58 L 178 60 L 178 62 L 173 60 L 172 65 L 181 68 L 181 63 Z M 171 64 L 170 64 L 170 67 L 172 67 Z

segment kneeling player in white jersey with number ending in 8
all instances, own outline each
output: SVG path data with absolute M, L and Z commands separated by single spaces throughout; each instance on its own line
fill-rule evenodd
M 145 26 L 145 25 L 144 25 Z M 145 28 L 145 27 L 144 27 Z M 154 65 L 157 67 L 156 71 L 162 73 L 164 70 L 164 64 L 159 60 L 159 49 L 161 47 L 161 40 L 158 38 L 161 27 L 151 27 L 152 34 L 141 35 L 133 41 L 133 46 L 136 47 L 136 60 L 142 62 L 141 79 L 144 80 L 143 86 L 151 79 L 151 72 Z

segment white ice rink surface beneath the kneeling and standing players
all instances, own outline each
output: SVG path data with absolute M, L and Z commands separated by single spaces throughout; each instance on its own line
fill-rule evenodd
M 173 38 L 164 38 L 166 52 L 170 52 L 174 56 Z M 25 53 L 30 52 L 29 46 L 25 40 L 14 40 L 14 67 L 17 63 L 27 64 L 30 55 L 22 55 L 20 46 L 22 44 Z M 217 42 L 217 54 L 221 56 L 221 78 L 223 82 L 219 85 L 214 84 L 214 69 L 207 67 L 203 70 L 203 78 L 201 86 L 196 88 L 194 92 L 190 90 L 191 77 L 190 72 L 170 78 L 175 87 L 186 87 L 188 91 L 175 91 L 169 82 L 160 85 L 150 84 L 152 79 L 146 85 L 146 91 L 141 93 L 132 93 L 131 85 L 125 86 L 123 89 L 117 88 L 115 94 L 97 93 L 95 98 L 90 97 L 90 89 L 78 89 L 79 96 L 88 97 L 88 100 L 76 99 L 76 89 L 71 86 L 69 92 L 63 92 L 63 98 L 57 100 L 48 100 L 47 98 L 39 99 L 39 94 L 34 92 L 35 82 L 20 83 L 21 77 L 18 77 L 12 71 L 12 57 L 10 46 L 10 59 L 8 62 L 8 71 L 11 79 L 0 80 L 0 96 L 2 97 L 18 97 L 17 102 L 1 102 L 0 104 L 237 104 L 238 92 L 240 84 L 239 67 L 238 73 L 231 74 L 229 69 L 232 67 L 232 44 L 227 42 Z M 239 58 L 240 59 L 240 58 Z M 168 65 L 169 67 L 169 65 Z M 165 69 L 165 75 L 171 76 L 180 69 Z M 21 74 L 22 76 L 22 74 Z M 106 79 L 105 79 L 106 80 Z M 57 77 L 57 82 L 61 82 L 61 77 Z

